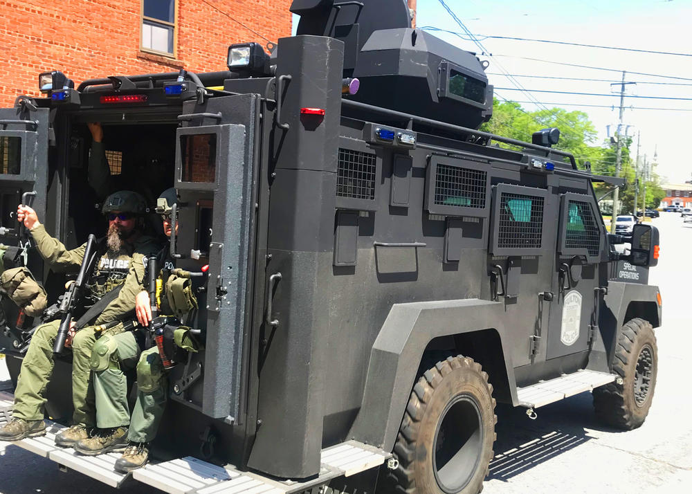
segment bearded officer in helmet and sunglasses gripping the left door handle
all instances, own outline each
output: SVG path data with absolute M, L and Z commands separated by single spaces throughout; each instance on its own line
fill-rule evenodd
M 153 255 L 158 245 L 153 237 L 143 232 L 142 215 L 146 212 L 142 196 L 123 190 L 108 196 L 102 212 L 108 217 L 107 235 L 98 241 L 97 257 L 93 273 L 86 286 L 86 298 L 95 307 L 107 292 L 122 284 L 118 297 L 111 300 L 95 320 L 95 324 L 122 320 L 134 309 L 134 300 L 144 279 L 144 256 Z M 77 271 L 84 258 L 86 244 L 67 250 L 48 235 L 39 223 L 36 212 L 28 206 L 17 207 L 17 220 L 24 221 L 32 235 L 39 254 L 54 269 Z M 126 282 L 127 277 L 127 282 Z M 0 440 L 19 441 L 25 437 L 42 436 L 46 433 L 44 397 L 53 373 L 53 343 L 60 320 L 37 327 L 28 351 L 21 364 L 21 372 L 15 390 L 12 420 L 0 429 Z M 122 324 L 110 329 L 122 330 Z M 73 426 L 57 434 L 58 446 L 73 446 L 80 439 L 89 437 L 95 426 L 93 387 L 89 385 L 89 358 L 95 343 L 94 327 L 71 332 L 66 347 L 72 347 L 72 400 L 74 405 Z

